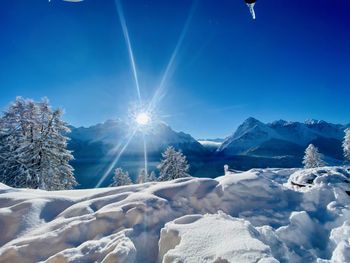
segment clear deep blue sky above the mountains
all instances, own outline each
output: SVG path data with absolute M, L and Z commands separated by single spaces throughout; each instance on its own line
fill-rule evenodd
M 179 40 L 192 0 L 124 0 L 148 100 Z M 262 121 L 350 122 L 350 1 L 198 0 L 159 112 L 195 137 Z M 47 96 L 88 126 L 123 117 L 137 94 L 114 0 L 2 0 L 0 107 Z

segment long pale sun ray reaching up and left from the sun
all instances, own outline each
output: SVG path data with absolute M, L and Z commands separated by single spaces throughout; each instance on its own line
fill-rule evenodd
M 141 103 L 142 100 L 141 100 L 139 77 L 138 77 L 138 73 L 137 73 L 137 69 L 136 69 L 135 56 L 134 56 L 134 52 L 133 52 L 131 41 L 130 41 L 129 31 L 128 31 L 128 27 L 127 27 L 125 16 L 124 16 L 123 6 L 121 3 L 121 0 L 115 0 L 115 3 L 116 3 L 116 7 L 117 7 L 120 25 L 122 27 L 123 35 L 124 35 L 125 42 L 126 42 L 126 45 L 128 48 L 128 54 L 129 54 L 129 59 L 130 59 L 130 63 L 131 63 L 132 73 L 134 76 L 137 96 L 138 96 L 139 102 Z

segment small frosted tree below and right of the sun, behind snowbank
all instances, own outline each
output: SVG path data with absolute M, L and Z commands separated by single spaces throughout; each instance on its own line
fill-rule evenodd
M 169 146 L 165 152 L 162 153 L 162 157 L 163 160 L 158 165 L 160 181 L 189 176 L 189 165 L 186 156 L 184 156 L 182 152 L 176 151 L 174 147 Z

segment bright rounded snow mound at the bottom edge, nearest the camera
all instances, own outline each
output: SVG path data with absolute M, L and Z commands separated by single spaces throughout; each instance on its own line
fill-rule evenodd
M 224 213 L 184 216 L 162 229 L 159 261 L 278 262 L 259 236 L 248 221 Z

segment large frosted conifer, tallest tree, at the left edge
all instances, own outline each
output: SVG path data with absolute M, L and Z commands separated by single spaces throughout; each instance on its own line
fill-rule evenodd
M 72 189 L 77 183 L 69 161 L 67 124 L 61 110 L 16 98 L 0 118 L 0 180 L 13 187 Z

